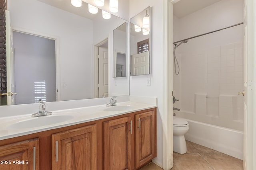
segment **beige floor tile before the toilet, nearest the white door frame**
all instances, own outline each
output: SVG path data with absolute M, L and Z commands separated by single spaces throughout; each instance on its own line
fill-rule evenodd
M 200 154 L 173 153 L 173 168 L 171 170 L 213 170 Z

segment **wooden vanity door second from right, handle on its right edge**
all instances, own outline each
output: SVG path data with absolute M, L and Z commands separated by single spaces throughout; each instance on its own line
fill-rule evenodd
M 131 169 L 131 117 L 103 123 L 104 170 Z

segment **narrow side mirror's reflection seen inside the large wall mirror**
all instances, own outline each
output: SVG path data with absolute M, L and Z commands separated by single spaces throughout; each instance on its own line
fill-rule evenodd
M 113 31 L 113 77 L 126 76 L 126 23 Z

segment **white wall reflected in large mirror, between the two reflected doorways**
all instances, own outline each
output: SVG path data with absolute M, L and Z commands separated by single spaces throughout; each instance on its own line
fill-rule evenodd
M 92 98 L 92 21 L 37 0 L 11 0 L 8 10 L 14 29 L 57 38 L 58 100 Z

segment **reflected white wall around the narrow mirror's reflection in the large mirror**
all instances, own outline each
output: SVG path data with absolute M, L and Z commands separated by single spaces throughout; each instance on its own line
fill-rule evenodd
M 101 16 L 93 21 L 93 43 L 96 45 L 100 41 L 108 38 L 108 92 L 109 96 L 129 95 L 129 78 L 128 69 L 126 77 L 113 78 L 113 30 L 122 25 L 125 20 L 111 15 L 110 20 L 105 20 Z M 102 29 L 104 28 L 104 29 Z M 128 31 L 127 31 L 128 33 Z M 128 39 L 126 39 L 128 44 Z M 126 54 L 129 56 L 128 48 Z M 126 68 L 128 68 L 128 57 L 126 58 Z

